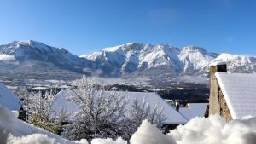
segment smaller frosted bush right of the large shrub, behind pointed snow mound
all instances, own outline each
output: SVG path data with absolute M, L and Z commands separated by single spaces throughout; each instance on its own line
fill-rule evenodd
M 159 129 L 166 117 L 163 115 L 163 107 L 158 104 L 152 109 L 146 101 L 141 105 L 139 101 L 133 100 L 131 111 L 128 116 L 125 116 L 124 128 L 125 135 L 122 137 L 129 140 L 131 135 L 137 131 L 137 128 L 142 124 L 143 120 L 148 120 L 150 124 L 155 124 Z

